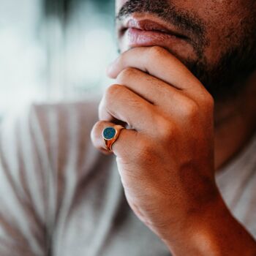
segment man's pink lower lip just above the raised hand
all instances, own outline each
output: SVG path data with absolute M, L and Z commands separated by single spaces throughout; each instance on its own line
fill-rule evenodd
M 176 44 L 187 43 L 184 38 L 176 37 L 175 35 L 161 31 L 145 31 L 129 28 L 125 32 L 125 36 L 129 47 L 159 45 L 170 48 Z

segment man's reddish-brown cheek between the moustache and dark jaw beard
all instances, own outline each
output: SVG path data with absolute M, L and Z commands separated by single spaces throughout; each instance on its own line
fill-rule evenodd
M 199 1 L 195 1 L 199 4 Z M 195 4 L 194 2 L 194 4 Z M 247 1 L 246 1 L 247 2 Z M 205 49 L 208 63 L 216 64 L 230 46 L 237 45 L 244 34 L 244 20 L 249 13 L 240 0 L 200 1 L 201 5 L 192 11 L 200 17 L 206 26 L 209 45 Z

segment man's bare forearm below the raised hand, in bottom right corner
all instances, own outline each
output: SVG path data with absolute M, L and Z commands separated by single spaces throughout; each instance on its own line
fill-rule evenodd
M 222 198 L 187 225 L 177 239 L 165 241 L 175 256 L 256 255 L 256 241 L 230 214 Z

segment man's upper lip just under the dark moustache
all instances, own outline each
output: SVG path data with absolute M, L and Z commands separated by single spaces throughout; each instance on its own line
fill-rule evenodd
M 183 39 L 188 39 L 185 34 L 181 34 L 177 29 L 170 28 L 170 26 L 166 26 L 161 22 L 157 22 L 156 20 L 149 20 L 148 18 L 128 18 L 121 23 L 119 26 L 118 31 L 119 35 L 124 34 L 124 31 L 127 29 L 140 29 L 143 31 L 159 31 L 165 34 L 171 34 L 176 37 L 181 37 Z

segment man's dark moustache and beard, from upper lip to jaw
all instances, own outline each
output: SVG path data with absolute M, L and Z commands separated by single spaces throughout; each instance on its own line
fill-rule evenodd
M 215 102 L 232 100 L 246 89 L 244 83 L 256 69 L 256 18 L 253 13 L 244 18 L 236 36 L 224 45 L 219 61 L 211 64 L 204 55 L 210 45 L 206 37 L 206 23 L 197 15 L 178 10 L 167 0 L 129 0 L 121 7 L 116 20 L 123 20 L 135 12 L 157 15 L 167 23 L 188 31 L 197 59 L 180 60 L 203 83 Z

